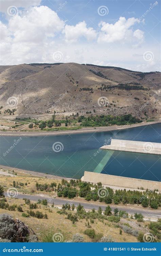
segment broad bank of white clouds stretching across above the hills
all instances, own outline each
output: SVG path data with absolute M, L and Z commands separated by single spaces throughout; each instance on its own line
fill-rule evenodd
M 14 0 L 14 3 L 16 2 Z M 31 2 L 33 5 L 38 4 L 38 0 L 19 2 L 24 9 L 19 9 L 14 16 L 8 15 L 6 24 L 0 22 L 2 65 L 53 63 L 53 53 L 61 51 L 64 58 L 60 62 L 97 63 L 102 66 L 108 63 L 109 66 L 131 70 L 159 70 L 159 61 L 156 60 L 156 56 L 159 56 L 157 44 L 150 48 L 150 51 L 154 52 L 155 62 L 145 63 L 143 60 L 144 33 L 138 29 L 140 21 L 136 18 L 121 17 L 114 24 L 102 22 L 101 32 L 98 32 L 92 27 L 88 28 L 85 21 L 75 26 L 66 25 L 65 21 L 59 18 L 59 13 L 47 6 L 30 6 Z M 10 5 L 14 4 L 10 2 Z M 87 40 L 90 43 L 87 43 Z M 116 43 L 112 44 L 113 42 Z M 128 44 L 124 45 L 123 42 Z M 111 45 L 112 49 L 108 51 Z M 136 49 L 131 45 L 140 47 Z

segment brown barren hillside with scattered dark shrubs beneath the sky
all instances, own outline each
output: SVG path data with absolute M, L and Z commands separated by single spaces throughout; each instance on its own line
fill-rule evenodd
M 117 67 L 77 63 L 34 63 L 0 68 L 1 117 L 86 114 L 159 117 L 160 72 L 142 73 Z M 8 103 L 8 98 L 14 102 Z M 100 97 L 105 97 L 100 102 Z M 16 102 L 15 102 L 16 101 Z M 12 115 L 12 114 L 11 114 Z

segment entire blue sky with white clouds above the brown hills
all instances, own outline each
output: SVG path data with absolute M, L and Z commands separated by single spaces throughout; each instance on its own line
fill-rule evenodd
M 160 1 L 0 0 L 0 65 L 160 71 Z

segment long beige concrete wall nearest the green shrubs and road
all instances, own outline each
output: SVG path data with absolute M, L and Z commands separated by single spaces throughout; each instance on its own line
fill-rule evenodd
M 134 179 L 122 176 L 115 176 L 109 174 L 102 173 L 94 173 L 94 172 L 84 172 L 84 176 L 82 177 L 82 181 L 97 183 L 101 182 L 105 186 L 118 186 L 123 188 L 134 188 L 143 187 L 144 189 L 158 189 L 161 191 L 161 182 L 158 181 L 148 181 L 141 179 Z

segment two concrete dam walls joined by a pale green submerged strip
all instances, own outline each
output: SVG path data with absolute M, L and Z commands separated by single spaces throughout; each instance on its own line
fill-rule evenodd
M 101 173 L 105 168 L 107 162 L 112 157 L 115 151 L 126 151 L 126 152 L 136 152 L 143 154 L 153 154 L 161 155 L 161 143 L 153 142 L 142 142 L 142 141 L 128 141 L 128 140 L 111 140 L 110 145 L 104 145 L 100 150 L 106 150 L 107 153 L 97 165 L 93 172 L 84 172 L 82 181 L 95 183 L 101 182 L 103 186 L 118 186 L 123 188 L 133 188 L 137 189 L 138 187 L 143 187 L 144 189 L 158 189 L 161 191 L 161 182 L 135 179 L 130 177 L 116 176 L 110 174 Z M 147 155 L 148 157 L 148 155 Z M 126 161 L 126 159 L 125 159 Z

